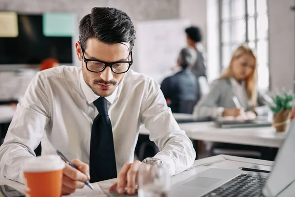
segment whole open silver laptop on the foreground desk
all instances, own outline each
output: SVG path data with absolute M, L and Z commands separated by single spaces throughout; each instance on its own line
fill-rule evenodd
M 284 190 L 288 190 L 289 194 L 293 194 L 291 196 L 295 196 L 294 142 L 295 121 L 292 121 L 270 173 L 210 168 L 173 186 L 170 196 L 277 197 Z M 288 187 L 289 185 L 292 186 Z

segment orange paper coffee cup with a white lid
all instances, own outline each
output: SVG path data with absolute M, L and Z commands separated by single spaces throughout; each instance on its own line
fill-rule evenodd
M 23 166 L 26 197 L 60 197 L 65 163 L 58 155 L 39 156 Z

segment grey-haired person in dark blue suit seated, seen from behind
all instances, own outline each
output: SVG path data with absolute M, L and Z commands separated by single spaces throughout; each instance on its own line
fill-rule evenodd
M 161 84 L 161 90 L 169 107 L 174 113 L 192 113 L 193 106 L 200 99 L 198 78 L 192 73 L 197 54 L 192 47 L 181 49 L 177 58 L 178 72 L 167 77 Z

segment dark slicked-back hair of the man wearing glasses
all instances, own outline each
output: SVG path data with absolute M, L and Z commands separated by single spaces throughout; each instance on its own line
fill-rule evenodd
M 122 10 L 93 7 L 79 24 L 79 41 L 84 50 L 89 38 L 109 44 L 129 42 L 131 51 L 135 42 L 135 29 L 130 17 Z

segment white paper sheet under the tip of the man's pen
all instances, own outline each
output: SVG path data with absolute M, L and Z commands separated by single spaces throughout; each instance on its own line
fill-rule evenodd
M 83 189 L 77 189 L 73 194 L 63 197 L 107 197 L 98 183 L 91 183 L 94 190 L 91 190 L 88 186 L 84 186 Z

